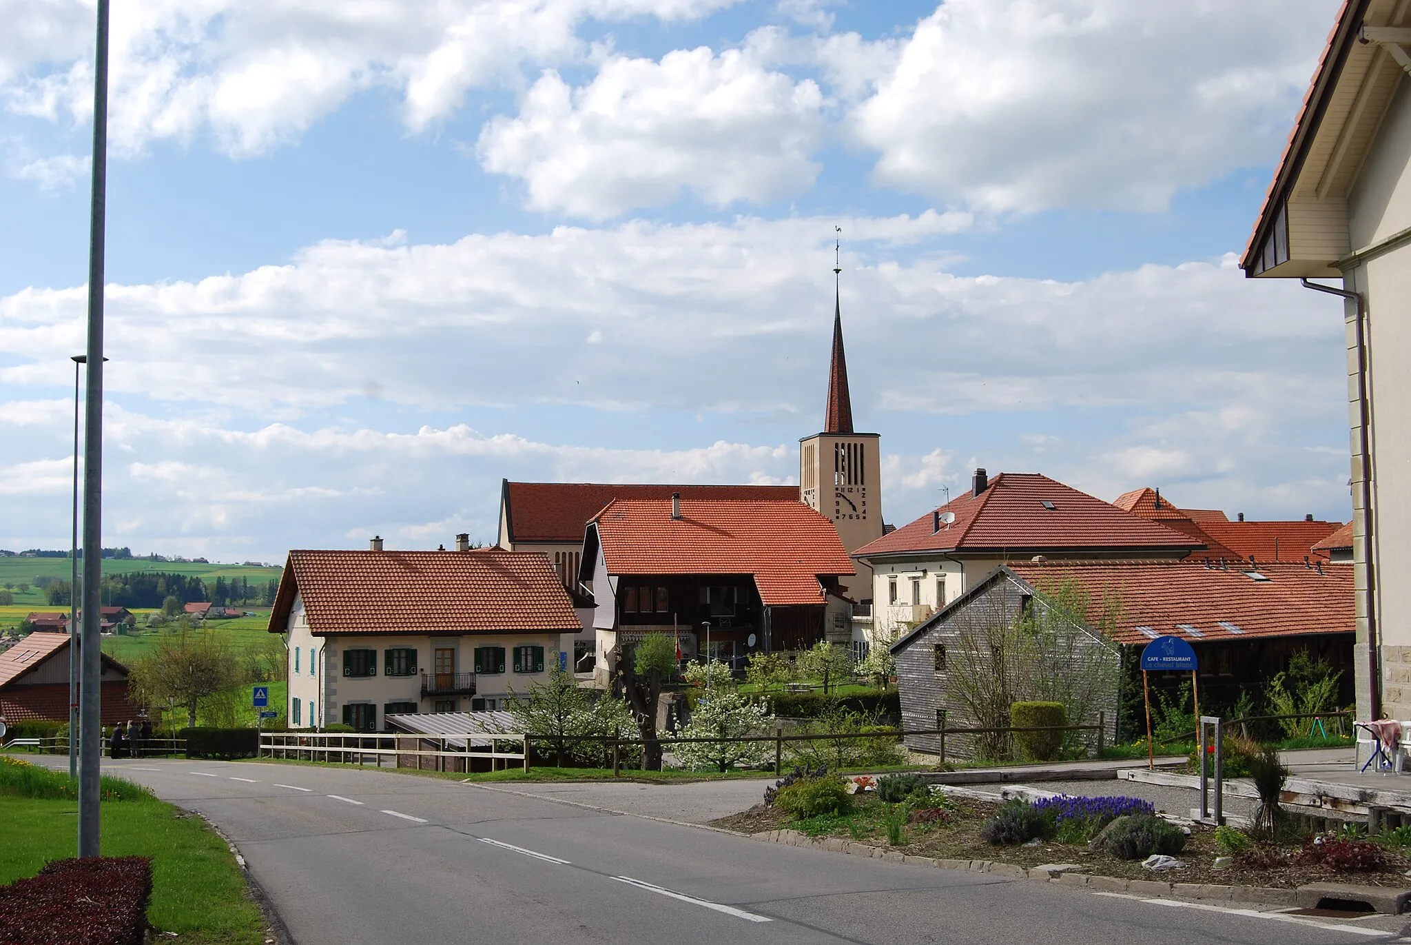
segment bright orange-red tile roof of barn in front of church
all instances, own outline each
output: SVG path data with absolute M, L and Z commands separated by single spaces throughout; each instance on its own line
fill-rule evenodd
M 753 575 L 768 606 L 823 603 L 820 576 L 856 573 L 838 530 L 794 501 L 618 499 L 594 520 L 608 573 Z

